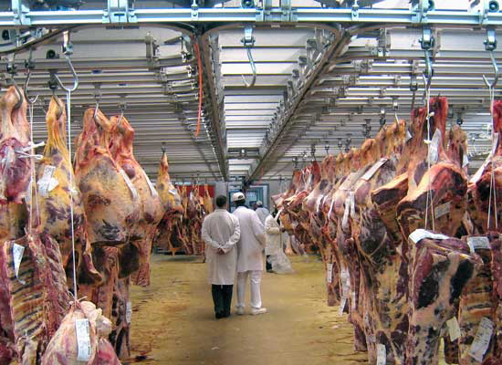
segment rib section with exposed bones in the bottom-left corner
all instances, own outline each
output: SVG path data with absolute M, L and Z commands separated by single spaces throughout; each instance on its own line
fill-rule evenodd
M 15 344 L 20 363 L 36 364 L 70 301 L 58 243 L 35 233 L 5 241 L 0 266 L 1 292 L 10 308 L 1 314 L 2 328 Z

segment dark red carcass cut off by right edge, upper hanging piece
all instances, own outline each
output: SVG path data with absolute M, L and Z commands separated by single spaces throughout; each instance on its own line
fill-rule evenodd
M 469 182 L 468 212 L 476 232 L 501 232 L 502 227 L 502 100 L 493 105 L 492 150 Z M 491 196 L 490 196 L 491 195 Z M 489 216 L 489 219 L 488 219 Z M 489 224 L 488 224 L 489 222 Z

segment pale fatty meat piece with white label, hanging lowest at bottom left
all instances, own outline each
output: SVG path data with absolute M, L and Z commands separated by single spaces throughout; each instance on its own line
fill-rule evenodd
M 89 328 L 89 335 L 82 338 L 87 337 L 89 342 L 85 346 L 81 340 L 79 349 L 77 322 L 80 327 L 82 321 Z M 110 331 L 110 319 L 102 315 L 100 308 L 88 301 L 73 303 L 58 332 L 48 344 L 42 365 L 120 365 L 120 360 L 107 339 Z

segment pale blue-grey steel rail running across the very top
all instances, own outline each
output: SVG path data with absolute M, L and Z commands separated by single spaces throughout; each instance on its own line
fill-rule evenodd
M 149 23 L 382 23 L 394 25 L 502 26 L 502 13 L 448 10 L 329 8 L 151 8 L 33 11 L 12 0 L 14 11 L 0 12 L 0 26 L 78 26 Z M 110 3 L 110 0 L 109 0 Z M 285 14 L 286 12 L 286 14 Z

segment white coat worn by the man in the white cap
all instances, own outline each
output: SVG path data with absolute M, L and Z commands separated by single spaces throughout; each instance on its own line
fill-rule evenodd
M 239 219 L 241 237 L 237 242 L 237 272 L 263 270 L 263 249 L 267 238 L 265 228 L 255 211 L 244 206 L 235 209 Z

